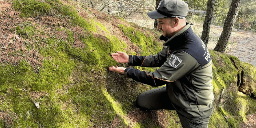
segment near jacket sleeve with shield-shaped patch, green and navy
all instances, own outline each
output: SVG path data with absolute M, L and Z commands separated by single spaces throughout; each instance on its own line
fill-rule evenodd
M 154 87 L 176 81 L 200 67 L 197 60 L 184 51 L 175 51 L 164 64 L 154 72 L 125 69 L 124 75 L 138 82 Z

